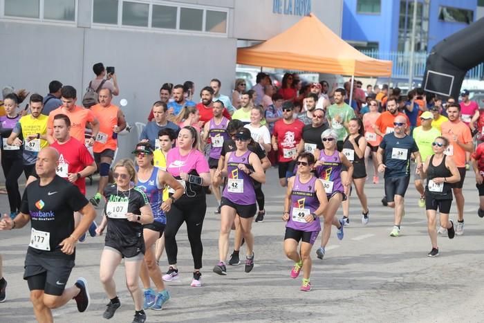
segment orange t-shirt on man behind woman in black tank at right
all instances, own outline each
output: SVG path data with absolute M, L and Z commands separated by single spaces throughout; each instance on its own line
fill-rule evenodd
M 445 149 L 448 156 L 453 156 L 457 167 L 465 167 L 465 150 L 454 142 L 454 136 L 457 136 L 458 141 L 465 144 L 472 141 L 471 129 L 462 121 L 452 122 L 446 121 L 440 126 L 442 136 L 449 140 L 449 147 Z

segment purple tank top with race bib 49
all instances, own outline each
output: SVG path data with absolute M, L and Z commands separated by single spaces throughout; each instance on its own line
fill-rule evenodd
M 306 213 L 311 214 L 319 207 L 315 191 L 316 181 L 317 178 L 313 176 L 308 183 L 301 183 L 299 175 L 295 176 L 290 197 L 289 221 L 286 227 L 304 232 L 321 231 L 319 219 L 310 223 L 306 223 L 303 219 Z

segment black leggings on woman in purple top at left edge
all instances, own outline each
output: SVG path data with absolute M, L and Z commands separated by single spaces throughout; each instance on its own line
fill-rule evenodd
M 20 210 L 21 203 L 18 181 L 22 172 L 24 172 L 24 161 L 2 156 L 1 167 L 3 169 L 3 175 L 5 176 L 10 212 L 17 212 Z

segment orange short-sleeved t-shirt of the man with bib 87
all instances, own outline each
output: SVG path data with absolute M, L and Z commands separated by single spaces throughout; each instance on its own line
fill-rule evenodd
M 86 123 L 93 122 L 95 120 L 93 112 L 89 109 L 78 107 L 77 105 L 71 111 L 67 111 L 67 109 L 62 106 L 58 107 L 57 109 L 50 111 L 48 115 L 48 133 L 52 134 L 52 131 L 54 130 L 54 117 L 61 113 L 68 116 L 69 120 L 71 120 L 71 131 L 69 131 L 71 137 L 76 138 L 80 142 L 84 142 L 84 130 L 86 129 Z

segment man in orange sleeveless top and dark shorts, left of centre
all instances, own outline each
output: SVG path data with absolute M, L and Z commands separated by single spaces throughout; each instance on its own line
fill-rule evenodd
M 102 192 L 108 185 L 109 169 L 113 162 L 114 154 L 118 149 L 118 133 L 126 128 L 124 113 L 119 107 L 111 104 L 113 93 L 111 89 L 102 89 L 99 91 L 99 104 L 91 107 L 95 118 L 99 120 L 100 127 L 95 138 L 93 152 L 94 159 L 99 169 L 100 179 L 97 184 L 97 193 L 89 201 L 94 205 L 99 205 Z

